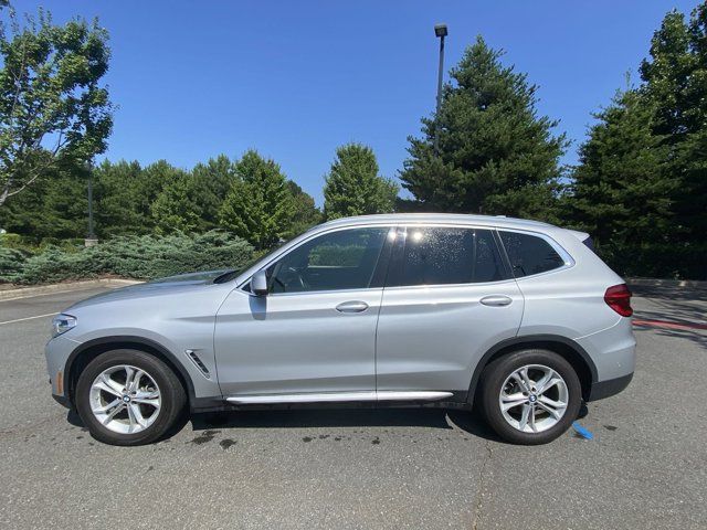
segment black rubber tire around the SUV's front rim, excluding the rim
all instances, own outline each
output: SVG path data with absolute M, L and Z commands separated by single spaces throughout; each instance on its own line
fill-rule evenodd
M 91 410 L 91 386 L 105 370 L 119 364 L 128 364 L 147 372 L 157 383 L 161 404 L 155 422 L 135 434 L 123 434 L 105 427 Z M 155 356 L 139 350 L 113 350 L 92 360 L 78 377 L 74 398 L 76 412 L 91 435 L 110 445 L 144 445 L 162 437 L 184 411 L 187 395 L 175 372 Z

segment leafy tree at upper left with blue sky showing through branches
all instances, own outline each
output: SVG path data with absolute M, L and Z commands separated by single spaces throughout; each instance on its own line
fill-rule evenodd
M 113 126 L 108 34 L 97 21 L 54 25 L 49 13 L 0 29 L 0 206 L 38 179 L 106 149 Z

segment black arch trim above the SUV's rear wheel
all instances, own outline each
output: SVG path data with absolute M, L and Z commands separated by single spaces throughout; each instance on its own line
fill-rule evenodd
M 589 400 L 592 384 L 598 381 L 597 365 L 584 348 L 576 341 L 557 335 L 528 335 L 506 339 L 490 348 L 476 364 L 468 389 L 467 402 L 473 404 L 478 390 L 478 381 L 484 369 L 502 356 L 527 348 L 541 348 L 564 358 L 574 369 L 582 385 L 582 398 Z

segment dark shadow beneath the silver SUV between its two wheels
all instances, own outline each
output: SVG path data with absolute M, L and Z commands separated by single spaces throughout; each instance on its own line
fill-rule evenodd
M 300 409 L 192 414 L 194 431 L 317 427 L 455 427 L 494 442 L 500 438 L 477 414 L 444 409 Z

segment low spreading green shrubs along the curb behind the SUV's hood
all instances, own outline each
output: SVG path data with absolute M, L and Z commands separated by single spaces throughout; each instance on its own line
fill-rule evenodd
M 239 268 L 252 257 L 250 243 L 220 231 L 196 236 L 123 236 L 81 250 L 75 245 L 46 246 L 28 257 L 20 251 L 0 247 L 0 282 L 40 284 L 103 275 L 154 279 Z

